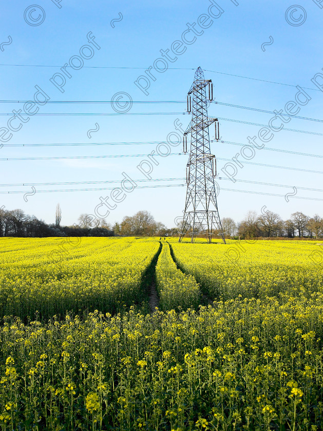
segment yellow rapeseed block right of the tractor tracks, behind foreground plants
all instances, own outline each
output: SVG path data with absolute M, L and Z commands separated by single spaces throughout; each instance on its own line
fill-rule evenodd
M 178 266 L 193 275 L 212 300 L 238 295 L 310 295 L 323 290 L 323 265 L 309 257 L 321 245 L 308 241 L 228 241 L 229 244 L 171 242 Z

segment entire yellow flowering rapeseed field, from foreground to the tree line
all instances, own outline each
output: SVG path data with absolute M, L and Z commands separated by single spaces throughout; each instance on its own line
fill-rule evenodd
M 61 241 L 0 239 L 1 430 L 323 430 L 320 245 Z

